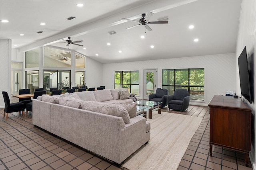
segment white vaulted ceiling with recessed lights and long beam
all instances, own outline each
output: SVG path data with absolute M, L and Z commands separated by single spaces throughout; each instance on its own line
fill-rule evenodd
M 235 53 L 240 7 L 241 0 L 0 0 L 0 20 L 9 20 L 0 22 L 0 38 L 28 51 L 43 45 L 68 48 L 52 42 L 70 36 L 82 39 L 86 49 L 69 49 L 101 63 Z M 136 23 L 121 20 L 138 21 L 147 12 L 154 13 L 149 21 L 168 18 L 169 23 L 149 24 L 153 31 L 148 31 L 143 25 L 126 29 Z M 70 16 L 76 18 L 66 20 Z

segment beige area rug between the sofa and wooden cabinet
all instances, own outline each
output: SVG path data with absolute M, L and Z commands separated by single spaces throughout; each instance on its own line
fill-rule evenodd
M 148 144 L 129 156 L 122 165 L 129 170 L 176 170 L 202 118 L 152 112 Z

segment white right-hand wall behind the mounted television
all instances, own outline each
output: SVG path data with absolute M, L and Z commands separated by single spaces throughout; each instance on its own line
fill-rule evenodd
M 252 104 L 246 102 L 246 104 L 252 109 L 252 147 L 250 152 L 250 160 L 252 162 L 252 168 L 256 170 L 256 153 L 255 153 L 255 132 L 256 132 L 256 119 L 255 119 L 255 97 L 256 97 L 256 1 L 255 0 L 243 0 L 241 13 L 240 13 L 240 21 L 239 21 L 239 29 L 238 29 L 238 39 L 236 44 L 236 61 L 246 46 L 248 62 L 250 62 L 250 72 L 253 75 L 252 81 L 253 86 L 251 87 L 253 90 L 252 96 Z M 240 82 L 239 82 L 239 73 L 238 73 L 238 62 L 236 62 L 236 90 L 240 92 Z

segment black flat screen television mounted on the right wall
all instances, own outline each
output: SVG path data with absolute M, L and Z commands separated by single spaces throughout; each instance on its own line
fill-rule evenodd
M 252 103 L 246 47 L 238 57 L 241 95 Z

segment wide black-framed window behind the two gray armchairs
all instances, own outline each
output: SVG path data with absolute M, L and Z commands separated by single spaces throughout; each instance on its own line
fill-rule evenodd
M 190 99 L 204 100 L 204 68 L 163 70 L 162 88 L 166 88 L 170 95 L 177 88 L 185 88 Z

